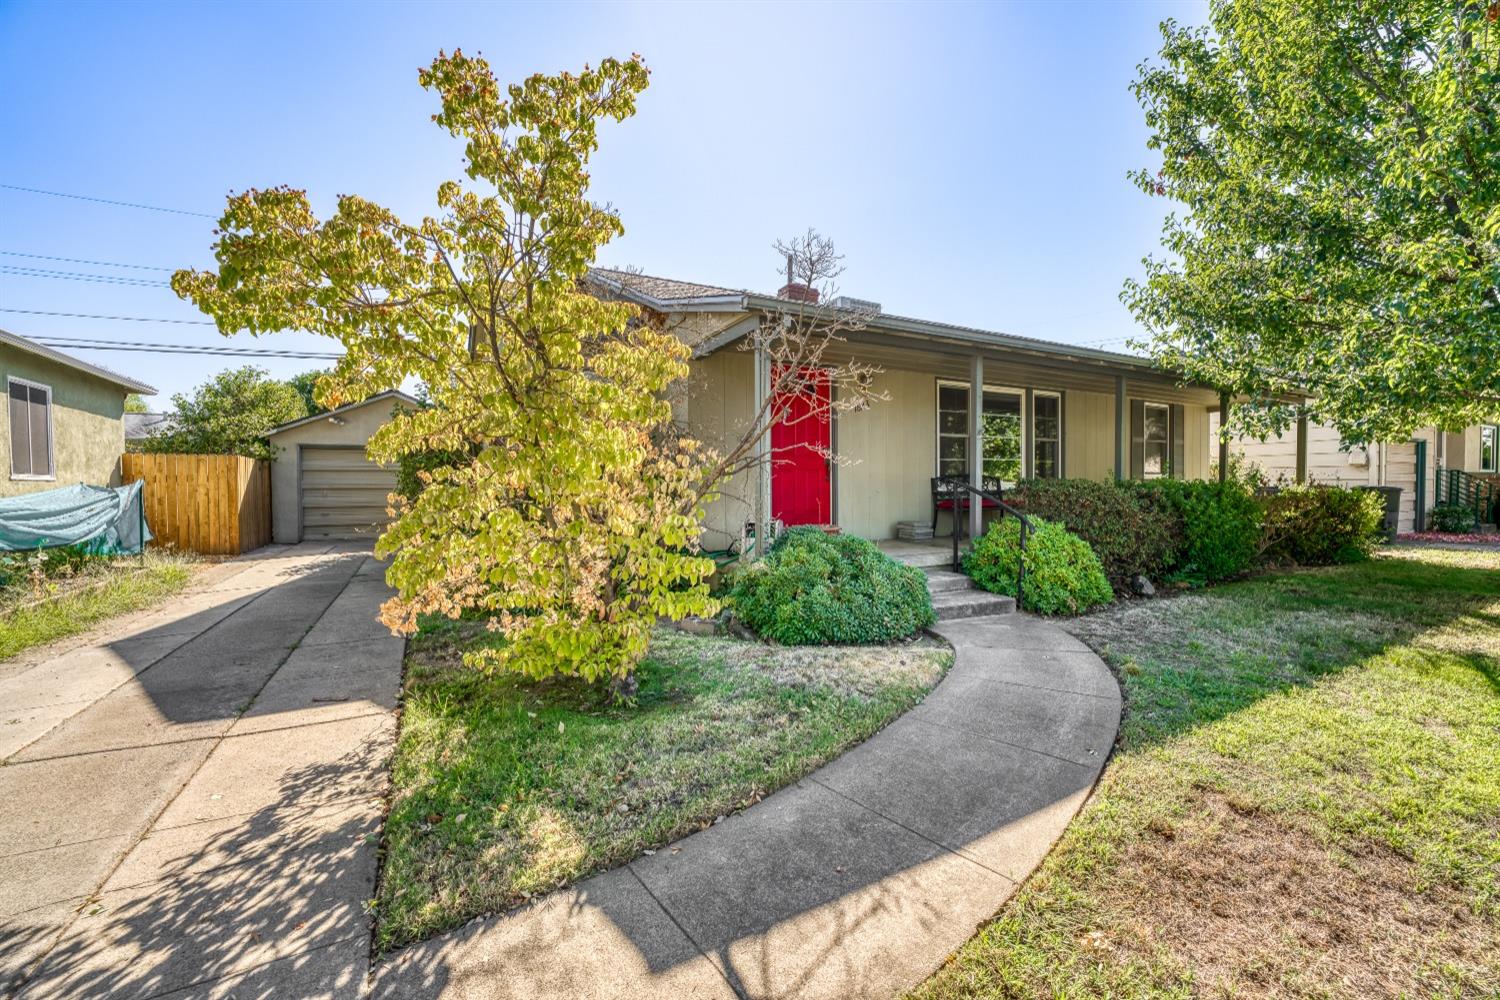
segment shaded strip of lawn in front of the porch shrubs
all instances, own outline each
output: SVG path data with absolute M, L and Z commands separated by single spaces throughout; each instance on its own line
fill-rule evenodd
M 1120 745 L 1138 750 L 1450 625 L 1500 630 L 1491 610 L 1500 603 L 1500 553 L 1486 567 L 1473 561 L 1473 553 L 1406 549 L 1116 606 L 1064 627 L 1120 675 Z M 1500 634 L 1490 649 L 1443 652 L 1500 693 Z

